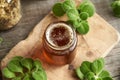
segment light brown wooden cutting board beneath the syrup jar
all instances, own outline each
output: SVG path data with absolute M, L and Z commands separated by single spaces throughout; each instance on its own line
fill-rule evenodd
M 76 0 L 79 4 L 80 1 Z M 14 56 L 31 57 L 40 52 L 42 37 L 46 27 L 56 21 L 66 21 L 66 15 L 56 18 L 52 12 L 38 23 L 28 38 L 19 42 L 1 61 L 1 69 L 6 66 Z M 71 63 L 72 67 L 78 67 L 82 61 L 93 61 L 98 57 L 105 57 L 120 40 L 119 33 L 98 14 L 88 20 L 90 31 L 86 35 L 77 35 L 78 43 L 76 57 Z M 42 62 L 46 70 L 48 80 L 76 80 L 74 71 L 70 65 L 54 66 Z

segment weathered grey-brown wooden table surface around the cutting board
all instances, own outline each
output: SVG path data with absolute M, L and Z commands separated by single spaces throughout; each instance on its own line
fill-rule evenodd
M 0 31 L 3 42 L 0 44 L 0 60 L 50 12 L 53 4 L 60 0 L 21 0 L 22 19 L 12 29 Z M 91 0 L 96 6 L 96 12 L 120 32 L 120 18 L 112 14 L 110 3 L 112 0 Z M 120 42 L 105 57 L 105 68 L 115 80 L 120 80 Z M 1 80 L 1 79 L 0 79 Z

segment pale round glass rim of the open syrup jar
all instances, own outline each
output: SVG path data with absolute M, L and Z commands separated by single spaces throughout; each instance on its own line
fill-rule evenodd
M 69 35 L 71 36 L 70 38 L 70 41 L 64 45 L 64 46 L 58 46 L 56 44 L 54 44 L 52 42 L 52 40 L 50 40 L 50 33 L 51 33 L 51 30 L 58 27 L 58 26 L 63 26 L 65 28 L 67 28 L 67 30 L 70 32 Z M 65 22 L 55 22 L 55 23 L 51 23 L 48 25 L 46 31 L 45 31 L 45 41 L 47 43 L 47 45 L 49 45 L 49 47 L 51 47 L 52 49 L 55 49 L 55 50 L 65 50 L 65 49 L 68 49 L 69 47 L 71 47 L 73 44 L 74 44 L 74 39 L 76 38 L 76 33 L 75 33 L 75 30 L 68 24 L 66 24 Z

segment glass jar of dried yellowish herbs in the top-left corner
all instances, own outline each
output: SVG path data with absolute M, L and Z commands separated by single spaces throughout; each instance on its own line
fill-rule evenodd
M 20 0 L 0 0 L 0 30 L 13 27 L 20 18 Z

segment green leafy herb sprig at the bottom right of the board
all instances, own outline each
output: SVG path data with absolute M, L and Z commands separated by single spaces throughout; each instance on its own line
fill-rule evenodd
M 84 61 L 75 71 L 80 80 L 113 80 L 104 66 L 104 59 L 99 58 L 93 62 Z

